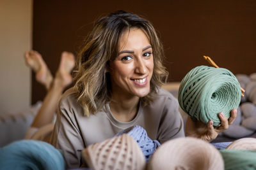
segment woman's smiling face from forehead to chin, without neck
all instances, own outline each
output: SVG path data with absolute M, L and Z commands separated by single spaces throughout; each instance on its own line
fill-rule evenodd
M 147 96 L 154 60 L 145 32 L 138 28 L 125 31 L 120 37 L 118 56 L 109 66 L 113 95 Z

